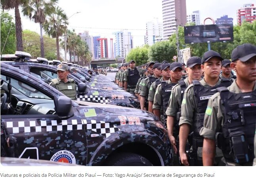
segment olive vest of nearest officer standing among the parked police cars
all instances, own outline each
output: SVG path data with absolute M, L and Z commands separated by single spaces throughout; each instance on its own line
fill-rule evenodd
M 76 99 L 76 83 L 73 79 L 69 79 L 71 82 L 62 83 L 57 78 L 53 79 L 52 82 L 55 84 L 57 90 L 71 98 L 71 100 Z M 71 87 L 70 87 L 71 86 Z M 72 88 L 72 89 L 69 89 Z

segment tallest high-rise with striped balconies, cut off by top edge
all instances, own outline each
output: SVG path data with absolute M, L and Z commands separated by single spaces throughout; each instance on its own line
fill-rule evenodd
M 176 26 L 187 23 L 186 0 L 162 0 L 163 40 L 175 33 Z

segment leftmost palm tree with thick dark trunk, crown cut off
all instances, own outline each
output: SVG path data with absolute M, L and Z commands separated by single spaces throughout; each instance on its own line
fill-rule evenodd
M 16 29 L 16 49 L 17 51 L 23 51 L 22 41 L 22 27 L 21 27 L 21 15 L 19 13 L 19 6 L 26 4 L 28 0 L 1 0 L 1 8 L 3 10 L 15 10 L 15 29 Z

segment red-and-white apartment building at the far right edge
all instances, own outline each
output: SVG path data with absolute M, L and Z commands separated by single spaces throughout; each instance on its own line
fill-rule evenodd
M 244 4 L 242 8 L 237 9 L 237 25 L 243 21 L 252 23 L 256 20 L 256 7 L 254 4 Z

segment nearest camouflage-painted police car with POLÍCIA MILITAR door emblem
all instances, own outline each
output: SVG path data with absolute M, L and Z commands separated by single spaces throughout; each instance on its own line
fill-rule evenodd
M 17 157 L 95 166 L 172 164 L 166 128 L 153 114 L 73 101 L 23 67 L 0 66 L 1 119 L 17 138 Z

